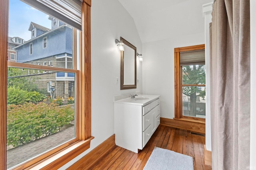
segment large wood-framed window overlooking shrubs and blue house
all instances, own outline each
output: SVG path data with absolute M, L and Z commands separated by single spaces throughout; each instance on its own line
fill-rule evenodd
M 15 11 L 19 11 L 18 15 L 26 14 L 21 17 L 26 18 L 24 21 L 18 19 L 16 15 L 9 16 L 9 35 L 6 24 L 0 25 L 0 31 L 6 34 L 0 36 L 0 47 L 4 48 L 0 53 L 2 66 L 0 67 L 2 69 L 0 169 L 24 169 L 32 166 L 57 169 L 88 149 L 90 140 L 93 139 L 90 132 L 90 74 L 88 74 L 90 53 L 82 52 L 90 51 L 84 49 L 84 47 L 90 48 L 90 41 L 87 40 L 90 39 L 90 32 L 86 29 L 90 27 L 88 22 L 90 15 L 83 17 L 88 25 L 85 25 L 86 28 L 82 33 L 76 29 L 79 28 L 79 23 L 73 27 L 72 17 L 65 19 L 66 16 L 62 21 L 71 23 L 70 25 L 51 29 L 52 20 L 48 18 L 55 15 L 51 11 L 52 8 L 46 9 L 47 14 L 52 15 L 46 18 L 47 14 L 39 11 L 44 11 L 45 7 L 38 5 L 40 2 L 24 1 L 28 4 L 32 3 L 33 8 L 17 0 L 0 2 L 0 14 L 4 18 L 4 23 L 8 22 L 8 10 L 5 10 L 8 8 L 8 2 L 10 14 Z M 72 4 L 72 1 L 76 4 L 80 3 L 81 8 L 82 2 L 79 0 L 69 2 Z M 34 10 L 37 7 L 39 10 Z M 84 3 L 83 9 L 90 12 L 90 3 L 89 5 Z M 22 10 L 26 12 L 21 12 Z M 57 15 L 61 18 L 61 14 Z M 85 15 L 85 12 L 82 12 L 82 15 Z M 48 27 L 50 30 L 42 31 L 40 33 L 42 36 L 31 39 L 30 36 L 26 37 L 31 35 L 26 31 L 30 22 L 34 21 L 33 17 L 38 21 L 37 27 Z M 22 24 L 19 24 L 20 22 Z M 16 27 L 14 23 L 24 27 Z M 23 36 L 22 38 L 26 40 L 15 48 L 16 63 L 6 62 L 8 47 L 5 45 L 7 42 L 5 37 L 10 35 Z M 43 38 L 46 36 L 49 37 L 48 43 L 47 39 Z M 60 39 L 64 40 L 63 43 L 55 43 Z M 44 43 L 45 40 L 48 51 L 42 52 L 42 42 Z M 84 64 L 89 66 L 86 70 Z M 8 74 L 7 79 L 6 74 Z M 70 155 L 69 152 L 72 154 Z

